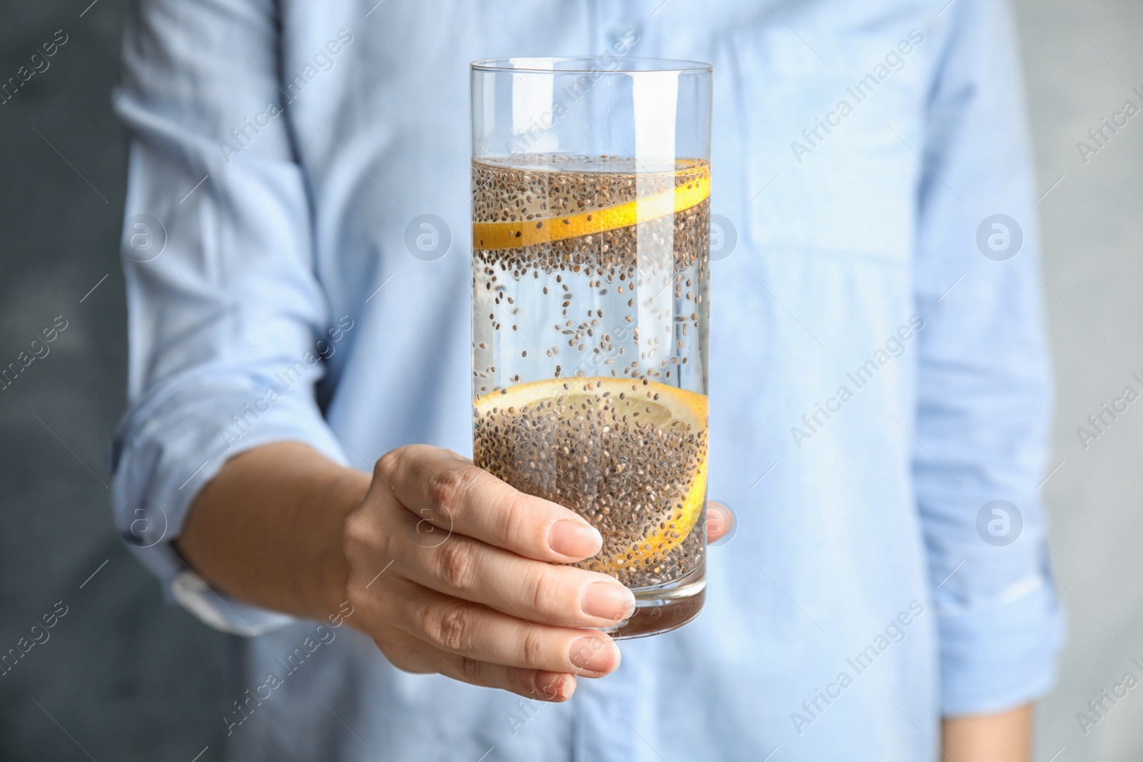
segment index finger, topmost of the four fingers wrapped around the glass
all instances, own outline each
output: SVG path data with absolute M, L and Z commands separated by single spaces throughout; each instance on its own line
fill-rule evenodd
M 377 462 L 397 498 L 418 520 L 537 561 L 596 555 L 602 537 L 574 511 L 509 487 L 459 456 L 402 447 Z

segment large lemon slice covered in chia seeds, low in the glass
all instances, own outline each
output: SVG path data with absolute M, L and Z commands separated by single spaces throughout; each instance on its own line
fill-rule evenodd
M 706 415 L 705 395 L 649 380 L 519 384 L 474 401 L 475 463 L 584 515 L 604 547 L 577 566 L 639 586 L 702 514 Z

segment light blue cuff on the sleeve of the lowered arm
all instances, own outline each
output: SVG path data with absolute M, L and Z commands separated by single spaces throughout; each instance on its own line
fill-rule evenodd
M 1056 681 L 1064 617 L 1042 572 L 990 605 L 937 608 L 941 712 L 996 714 L 1044 696 Z

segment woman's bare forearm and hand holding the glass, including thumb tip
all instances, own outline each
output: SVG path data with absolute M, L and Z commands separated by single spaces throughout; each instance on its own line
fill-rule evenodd
M 733 515 L 708 504 L 713 542 Z M 561 701 L 576 676 L 620 664 L 586 627 L 630 613 L 632 594 L 568 566 L 601 538 L 554 503 L 519 492 L 470 462 L 402 447 L 373 476 L 296 442 L 231 458 L 199 495 L 177 546 L 206 581 L 234 597 L 345 620 L 398 667 Z

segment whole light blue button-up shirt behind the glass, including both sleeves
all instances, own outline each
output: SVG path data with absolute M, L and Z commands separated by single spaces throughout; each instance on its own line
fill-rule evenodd
M 231 759 L 917 762 L 942 714 L 1042 695 L 1063 625 L 1007 7 L 375 2 L 144 0 L 125 40 L 115 511 L 246 636 Z M 471 452 L 467 63 L 623 45 L 714 65 L 709 495 L 738 527 L 702 615 L 539 705 L 207 588 L 170 542 L 229 457 Z M 406 246 L 421 215 L 440 258 Z

